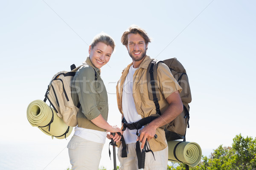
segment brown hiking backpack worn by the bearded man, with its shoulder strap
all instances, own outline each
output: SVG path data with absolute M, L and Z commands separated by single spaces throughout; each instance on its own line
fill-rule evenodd
M 157 65 L 159 62 L 165 63 L 170 68 L 172 75 L 183 89 L 180 93 L 180 98 L 183 103 L 183 111 L 172 122 L 166 124 L 166 140 L 172 141 L 183 139 L 186 141 L 186 128 L 189 128 L 189 103 L 192 100 L 186 70 L 176 58 L 166 59 L 163 61 L 157 61 L 155 59 L 151 60 L 147 70 L 147 82 L 149 82 L 148 96 L 150 100 L 154 101 L 158 114 L 161 114 L 158 103 L 158 100 L 160 100 L 160 95 L 158 91 L 159 88 L 155 80 L 157 80 Z

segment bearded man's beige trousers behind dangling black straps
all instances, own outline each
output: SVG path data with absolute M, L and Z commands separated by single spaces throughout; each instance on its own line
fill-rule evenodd
M 136 143 L 127 144 L 127 158 L 122 158 L 122 144 L 117 151 L 120 162 L 119 170 L 138 170 L 138 159 L 136 155 Z M 155 157 L 155 160 L 154 160 Z M 145 154 L 145 167 L 143 170 L 166 170 L 168 164 L 168 147 L 163 150 Z

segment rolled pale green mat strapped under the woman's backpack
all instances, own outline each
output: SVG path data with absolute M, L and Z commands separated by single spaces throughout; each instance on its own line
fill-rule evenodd
M 57 139 L 64 139 L 70 135 L 73 127 L 66 125 L 57 116 L 53 108 L 42 100 L 31 102 L 27 108 L 27 119 L 33 127 L 38 127 L 42 132 Z

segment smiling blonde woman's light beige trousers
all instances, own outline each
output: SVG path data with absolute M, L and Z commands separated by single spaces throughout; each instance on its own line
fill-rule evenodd
M 72 170 L 98 170 L 104 144 L 72 136 L 67 144 Z

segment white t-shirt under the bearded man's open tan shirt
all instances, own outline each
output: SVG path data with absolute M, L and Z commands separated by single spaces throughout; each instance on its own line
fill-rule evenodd
M 123 87 L 122 111 L 127 123 L 137 122 L 140 119 L 142 119 L 142 117 L 138 114 L 136 110 L 136 107 L 134 104 L 134 98 L 133 98 L 133 91 L 132 91 L 133 75 L 136 70 L 137 68 L 133 68 L 133 65 L 130 67 L 129 73 L 127 74 L 127 77 L 124 82 L 124 87 Z M 136 129 L 130 130 L 126 128 L 126 130 L 123 133 L 126 144 L 136 143 L 136 140 L 138 137 L 136 135 L 136 132 L 137 132 Z

